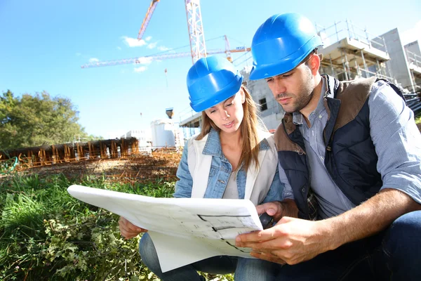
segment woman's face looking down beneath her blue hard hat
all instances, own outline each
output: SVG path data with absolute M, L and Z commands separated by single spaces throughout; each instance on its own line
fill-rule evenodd
M 208 108 L 205 112 L 221 131 L 235 133 L 243 121 L 244 101 L 244 93 L 240 90 L 231 98 Z

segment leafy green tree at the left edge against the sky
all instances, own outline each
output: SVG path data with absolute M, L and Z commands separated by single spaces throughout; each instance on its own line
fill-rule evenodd
M 51 98 L 46 91 L 19 98 L 8 90 L 0 96 L 0 148 L 68 143 L 74 135 L 86 135 L 78 121 L 68 98 Z

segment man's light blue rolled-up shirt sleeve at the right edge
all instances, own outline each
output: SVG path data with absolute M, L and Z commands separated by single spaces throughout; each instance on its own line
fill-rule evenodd
M 421 203 L 421 134 L 413 111 L 385 81 L 373 85 L 368 107 L 382 189 L 401 190 Z

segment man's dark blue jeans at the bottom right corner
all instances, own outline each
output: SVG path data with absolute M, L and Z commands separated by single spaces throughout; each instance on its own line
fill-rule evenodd
M 310 261 L 279 266 L 276 280 L 421 280 L 421 211 Z

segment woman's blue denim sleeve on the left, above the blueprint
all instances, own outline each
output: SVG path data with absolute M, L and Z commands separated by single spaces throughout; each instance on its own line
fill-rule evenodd
M 173 194 L 175 198 L 192 197 L 193 178 L 189 171 L 189 164 L 187 163 L 187 147 L 188 145 L 186 144 L 177 169 L 176 175 L 179 180 L 175 183 L 175 192 Z

